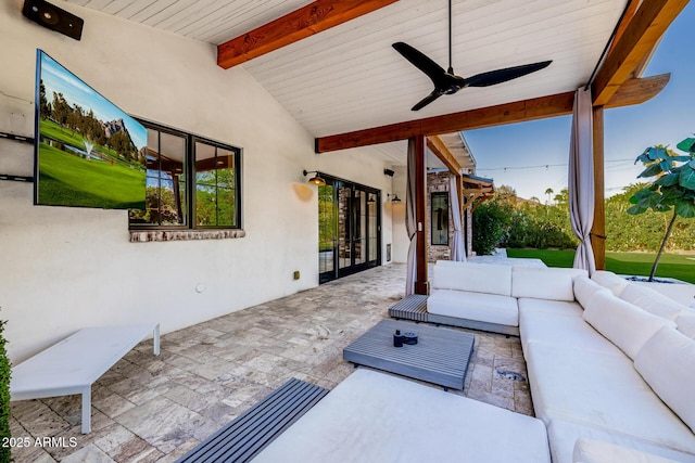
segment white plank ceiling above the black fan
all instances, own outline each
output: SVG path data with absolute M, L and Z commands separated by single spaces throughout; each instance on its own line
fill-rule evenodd
M 215 46 L 311 3 L 68 1 Z M 431 82 L 391 44 L 405 41 L 445 68 L 446 0 L 399 0 L 239 66 L 312 136 L 324 137 L 573 91 L 590 78 L 626 3 L 626 0 L 454 0 L 456 74 L 466 77 L 543 60 L 553 60 L 553 64 L 503 85 L 468 88 L 445 95 L 417 113 L 409 108 L 431 91 Z

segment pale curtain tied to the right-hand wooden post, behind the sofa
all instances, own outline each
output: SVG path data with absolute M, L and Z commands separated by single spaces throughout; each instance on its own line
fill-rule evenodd
M 594 156 L 591 91 L 574 92 L 572 136 L 569 147 L 569 215 L 572 231 L 580 240 L 574 268 L 596 271 L 591 228 L 594 222 Z

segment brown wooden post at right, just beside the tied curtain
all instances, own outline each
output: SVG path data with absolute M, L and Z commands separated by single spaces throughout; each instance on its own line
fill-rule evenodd
M 594 118 L 594 223 L 591 228 L 591 247 L 594 249 L 596 270 L 606 270 L 606 207 L 604 165 L 604 107 L 595 106 Z

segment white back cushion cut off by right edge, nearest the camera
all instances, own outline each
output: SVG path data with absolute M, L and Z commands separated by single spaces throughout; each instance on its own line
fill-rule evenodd
M 634 368 L 659 398 L 695 432 L 695 340 L 669 326 L 649 339 Z

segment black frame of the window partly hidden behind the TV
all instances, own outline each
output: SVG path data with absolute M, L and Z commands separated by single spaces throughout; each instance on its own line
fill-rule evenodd
M 135 223 L 130 216 L 128 216 L 128 229 L 131 232 L 139 231 L 179 231 L 179 232 L 202 232 L 206 230 L 243 230 L 242 227 L 242 157 L 243 150 L 240 146 L 236 146 L 229 143 L 219 142 L 206 137 L 201 137 L 195 133 L 186 132 L 184 130 L 167 127 L 150 120 L 137 118 L 148 130 L 155 130 L 159 133 L 168 133 L 176 137 L 181 137 L 186 140 L 186 153 L 185 153 L 185 183 L 186 183 L 186 222 L 181 224 L 154 224 L 154 223 Z M 203 143 L 214 146 L 216 150 L 226 150 L 233 153 L 233 184 L 235 184 L 235 214 L 233 226 L 228 224 L 210 224 L 200 226 L 197 220 L 197 176 L 195 176 L 195 143 Z M 161 189 L 161 185 L 160 185 Z

